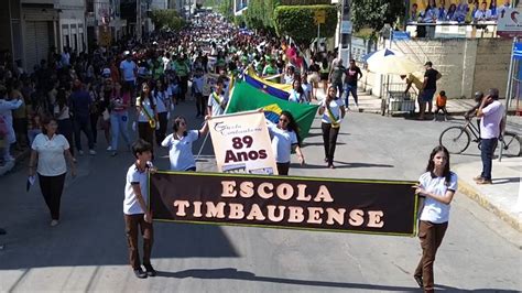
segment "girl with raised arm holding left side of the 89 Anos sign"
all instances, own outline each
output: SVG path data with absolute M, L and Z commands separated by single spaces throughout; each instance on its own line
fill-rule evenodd
M 171 170 L 196 172 L 192 143 L 207 134 L 208 123 L 206 120 L 208 118 L 209 116 L 205 117 L 205 123 L 199 130 L 187 130 L 187 122 L 182 116 L 174 119 L 172 134 L 168 134 L 161 143 L 162 146 L 168 148 Z

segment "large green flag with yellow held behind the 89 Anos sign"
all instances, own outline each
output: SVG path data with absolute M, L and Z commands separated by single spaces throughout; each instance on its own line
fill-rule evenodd
M 255 88 L 246 82 L 237 80 L 228 101 L 226 113 L 251 111 L 259 108 L 263 108 L 264 117 L 274 123 L 279 122 L 282 111 L 291 112 L 300 128 L 298 134 L 303 140 L 308 135 L 318 106 L 283 100 L 271 96 L 261 88 Z

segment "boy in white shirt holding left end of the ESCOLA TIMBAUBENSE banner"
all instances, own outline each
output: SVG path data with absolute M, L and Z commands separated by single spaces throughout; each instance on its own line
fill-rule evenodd
M 129 246 L 129 261 L 135 276 L 145 279 L 155 276 L 156 271 L 151 264 L 154 230 L 152 228 L 152 214 L 146 207 L 149 198 L 149 173 L 154 173 L 152 166 L 152 144 L 138 139 L 132 144 L 135 162 L 127 171 L 126 196 L 123 199 L 123 219 L 126 221 L 127 243 Z M 143 267 L 141 268 L 138 248 L 138 234 L 143 237 Z

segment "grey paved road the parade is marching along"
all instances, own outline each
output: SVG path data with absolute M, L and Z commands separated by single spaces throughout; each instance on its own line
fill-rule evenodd
M 176 111 L 187 110 L 192 104 Z M 291 174 L 416 180 L 449 123 L 349 113 L 339 137 L 338 167 L 328 170 L 317 119 L 304 148 L 307 165 L 292 165 Z M 9 232 L 0 238 L 6 243 L 0 250 L 0 292 L 417 290 L 412 278 L 421 253 L 416 238 L 177 224 L 155 224 L 153 264 L 161 273 L 138 280 L 127 262 L 121 215 L 132 158 L 128 152 L 110 158 L 101 135 L 99 141 L 99 154 L 79 158 L 78 176 L 67 180 L 57 227 L 48 226 L 39 188 L 25 193 L 25 170 L 0 178 L 0 226 Z M 471 149 L 452 163 L 475 160 L 478 152 Z M 165 158 L 157 162 L 160 167 L 167 164 Z M 198 164 L 215 170 L 210 145 Z M 452 292 L 521 290 L 521 239 L 457 194 L 435 262 L 436 283 Z

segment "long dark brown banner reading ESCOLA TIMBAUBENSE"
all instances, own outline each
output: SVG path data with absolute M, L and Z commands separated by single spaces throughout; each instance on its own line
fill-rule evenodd
M 414 236 L 414 182 L 157 172 L 154 220 Z

